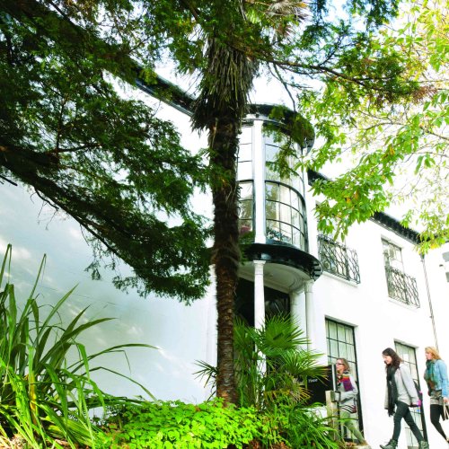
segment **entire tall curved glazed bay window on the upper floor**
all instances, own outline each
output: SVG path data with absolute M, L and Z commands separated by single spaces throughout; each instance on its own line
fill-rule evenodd
M 240 233 L 290 244 L 307 251 L 304 180 L 299 172 L 280 176 L 273 163 L 284 136 L 271 135 L 264 120 L 242 127 L 237 163 Z M 285 138 L 288 138 L 285 136 Z M 289 164 L 294 167 L 294 156 Z M 259 242 L 261 242 L 261 239 Z

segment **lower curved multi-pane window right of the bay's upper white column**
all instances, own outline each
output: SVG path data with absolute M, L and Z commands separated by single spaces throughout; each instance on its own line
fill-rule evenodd
M 304 205 L 295 189 L 280 182 L 265 182 L 268 239 L 305 249 Z

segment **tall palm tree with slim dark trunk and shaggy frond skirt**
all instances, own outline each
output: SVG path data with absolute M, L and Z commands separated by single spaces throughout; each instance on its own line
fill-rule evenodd
M 217 4 L 219 8 L 225 8 L 223 2 Z M 252 8 L 251 23 L 245 14 L 246 6 Z M 206 66 L 202 73 L 200 94 L 194 104 L 193 128 L 208 131 L 210 186 L 214 202 L 214 246 L 211 261 L 216 270 L 218 314 L 216 393 L 225 402 L 237 401 L 233 371 L 233 319 L 240 262 L 239 191 L 236 174 L 238 134 L 258 68 L 256 60 L 234 43 L 238 42 L 238 34 L 245 26 L 256 37 L 259 33 L 262 41 L 263 26 L 257 19 L 262 14 L 269 17 L 269 24 L 276 28 L 277 33 L 285 33 L 285 26 L 277 26 L 277 18 L 285 17 L 285 13 L 288 13 L 297 20 L 302 17 L 296 13 L 299 6 L 304 7 L 304 4 L 272 1 L 268 9 L 264 7 L 265 10 L 261 11 L 260 6 L 256 6 L 252 0 L 233 2 L 231 7 L 241 11 L 242 22 L 228 24 L 230 29 L 225 32 L 225 39 L 208 35 Z M 292 15 L 292 11 L 295 14 Z M 221 13 L 221 17 L 224 16 Z M 235 19 L 235 12 L 233 18 Z M 250 27 L 254 24 L 255 26 Z M 221 32 L 223 36 L 223 29 Z

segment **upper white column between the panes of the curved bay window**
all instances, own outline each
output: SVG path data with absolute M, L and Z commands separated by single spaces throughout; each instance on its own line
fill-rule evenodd
M 254 242 L 265 243 L 265 148 L 262 138 L 262 121 L 254 120 L 252 128 L 254 216 L 256 229 Z

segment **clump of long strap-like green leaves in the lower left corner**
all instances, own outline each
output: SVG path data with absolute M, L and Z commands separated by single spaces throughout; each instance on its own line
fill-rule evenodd
M 38 304 L 36 288 L 45 257 L 30 295 L 18 302 L 6 273 L 11 254 L 9 245 L 0 269 L 0 439 L 7 445 L 16 435 L 36 449 L 59 447 L 57 440 L 71 447 L 91 446 L 97 428 L 90 410 L 123 401 L 101 392 L 94 382 L 92 373 L 107 369 L 92 366 L 94 359 L 130 347 L 151 347 L 119 345 L 88 354 L 80 335 L 110 318 L 86 321 L 84 309 L 64 326 L 59 314 L 73 289 L 55 305 Z

